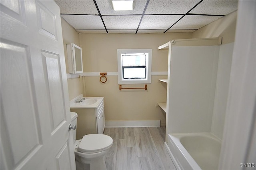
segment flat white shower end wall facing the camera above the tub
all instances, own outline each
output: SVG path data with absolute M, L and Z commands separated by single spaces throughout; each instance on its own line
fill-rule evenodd
M 167 133 L 211 131 L 219 49 L 169 46 Z

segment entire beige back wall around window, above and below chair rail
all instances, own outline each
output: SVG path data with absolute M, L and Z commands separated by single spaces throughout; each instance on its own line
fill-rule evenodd
M 191 33 L 168 34 L 80 34 L 84 72 L 117 72 L 117 49 L 152 49 L 152 72 L 168 70 L 168 50 L 156 50 L 158 46 L 172 40 L 191 38 Z M 105 120 L 161 120 L 165 124 L 165 113 L 156 104 L 166 102 L 166 83 L 152 76 L 148 90 L 119 90 L 117 76 L 108 76 L 105 84 L 100 76 L 86 76 L 86 96 L 104 97 Z M 123 85 L 144 87 L 144 84 Z

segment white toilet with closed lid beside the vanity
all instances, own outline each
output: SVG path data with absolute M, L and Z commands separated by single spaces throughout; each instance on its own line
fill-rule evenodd
M 77 114 L 71 113 L 72 126 L 76 125 Z M 76 158 L 76 170 L 106 170 L 105 157 L 113 144 L 113 139 L 104 134 L 84 135 L 82 140 L 76 140 L 76 130 L 73 131 Z

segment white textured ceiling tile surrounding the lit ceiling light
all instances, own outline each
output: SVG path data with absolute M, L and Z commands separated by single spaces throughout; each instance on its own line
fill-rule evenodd
M 115 11 L 112 8 L 110 0 L 96 0 L 100 14 L 102 15 L 130 15 L 130 14 L 142 14 L 146 6 L 146 0 L 135 1 L 135 7 L 133 10 L 128 11 Z

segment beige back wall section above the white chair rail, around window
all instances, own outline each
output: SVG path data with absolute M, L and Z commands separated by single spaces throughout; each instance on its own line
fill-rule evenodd
M 192 38 L 191 33 L 164 34 L 80 34 L 84 72 L 117 72 L 117 49 L 151 48 L 152 71 L 167 71 L 168 50 L 158 46 L 173 40 Z

